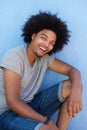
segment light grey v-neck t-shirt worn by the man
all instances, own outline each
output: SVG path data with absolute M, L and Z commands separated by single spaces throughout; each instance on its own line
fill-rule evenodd
M 8 109 L 4 92 L 3 68 L 20 75 L 20 99 L 24 102 L 30 102 L 40 88 L 44 74 L 53 59 L 53 56 L 45 55 L 37 58 L 33 67 L 31 67 L 25 45 L 18 46 L 7 52 L 0 62 L 0 114 Z

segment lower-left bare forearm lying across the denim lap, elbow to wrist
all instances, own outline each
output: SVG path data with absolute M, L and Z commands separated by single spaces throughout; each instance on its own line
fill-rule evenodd
M 15 100 L 13 101 L 13 103 L 10 102 L 8 106 L 12 111 L 14 111 L 15 113 L 23 117 L 31 118 L 31 119 L 38 120 L 41 122 L 45 120 L 45 117 L 43 115 L 36 112 L 28 104 L 26 104 L 25 102 L 21 100 Z

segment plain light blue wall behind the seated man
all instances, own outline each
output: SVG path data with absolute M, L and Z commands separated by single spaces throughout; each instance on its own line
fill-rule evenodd
M 21 29 L 27 18 L 39 10 L 58 13 L 71 31 L 69 44 L 55 56 L 77 67 L 82 74 L 83 110 L 72 119 L 68 130 L 87 130 L 87 0 L 0 0 L 0 59 L 4 53 L 24 44 Z M 66 79 L 47 71 L 42 88 Z M 56 114 L 55 114 L 56 117 Z

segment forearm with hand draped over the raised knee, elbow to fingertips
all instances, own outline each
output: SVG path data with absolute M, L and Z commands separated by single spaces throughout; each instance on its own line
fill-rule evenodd
M 70 117 L 74 117 L 82 110 L 82 81 L 78 70 L 71 68 L 69 71 L 71 92 L 68 97 L 67 111 Z

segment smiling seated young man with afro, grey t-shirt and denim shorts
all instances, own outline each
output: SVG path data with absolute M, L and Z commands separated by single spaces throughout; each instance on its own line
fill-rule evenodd
M 0 63 L 0 130 L 66 130 L 82 109 L 80 72 L 52 56 L 69 41 L 67 25 L 40 12 L 22 36 L 27 45 L 8 51 Z M 38 93 L 47 68 L 69 79 Z M 55 125 L 50 117 L 58 108 Z

